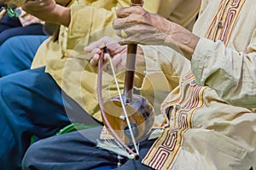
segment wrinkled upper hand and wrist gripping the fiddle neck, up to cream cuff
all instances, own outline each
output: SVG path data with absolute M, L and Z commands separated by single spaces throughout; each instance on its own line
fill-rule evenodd
M 199 37 L 158 14 L 142 7 L 119 8 L 113 29 L 122 43 L 165 45 L 193 54 Z M 190 57 L 189 57 L 190 59 Z

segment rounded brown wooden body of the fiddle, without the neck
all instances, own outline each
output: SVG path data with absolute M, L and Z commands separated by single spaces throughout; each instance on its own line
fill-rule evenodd
M 122 96 L 124 97 L 124 95 Z M 136 142 L 146 139 L 154 123 L 154 108 L 143 96 L 133 94 L 130 102 L 125 103 L 125 110 L 131 124 L 131 131 Z M 125 144 L 131 144 L 126 117 L 119 96 L 115 96 L 104 103 L 104 111 L 114 132 Z M 103 121 L 104 122 L 104 121 Z M 107 123 L 104 122 L 106 125 Z M 108 126 L 106 126 L 108 128 Z M 111 131 L 109 131 L 111 133 Z

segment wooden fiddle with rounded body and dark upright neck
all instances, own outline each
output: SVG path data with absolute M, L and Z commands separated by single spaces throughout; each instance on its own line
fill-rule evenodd
M 143 6 L 143 0 L 131 0 L 131 6 Z M 133 94 L 133 79 L 135 74 L 135 64 L 137 55 L 137 44 L 127 45 L 125 88 L 124 94 L 108 99 L 100 103 L 102 120 L 108 132 L 113 135 L 119 143 L 133 144 L 146 139 L 154 123 L 154 108 L 148 99 L 141 95 Z M 102 59 L 100 57 L 98 65 L 98 87 L 102 86 L 99 80 L 102 77 Z M 98 88 L 98 98 L 102 99 L 102 94 Z M 126 147 L 131 154 L 138 158 L 138 153 L 134 153 Z

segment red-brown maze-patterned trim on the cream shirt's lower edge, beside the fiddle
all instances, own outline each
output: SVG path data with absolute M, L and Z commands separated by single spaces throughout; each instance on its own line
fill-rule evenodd
M 161 137 L 154 143 L 143 163 L 154 169 L 170 169 L 183 143 L 183 133 L 192 127 L 192 116 L 202 106 L 202 98 L 205 87 L 191 86 L 190 82 L 195 80 L 192 72 L 186 74 L 181 83 L 181 88 L 186 92 L 180 97 L 180 107 L 174 115 L 174 125 L 166 129 Z

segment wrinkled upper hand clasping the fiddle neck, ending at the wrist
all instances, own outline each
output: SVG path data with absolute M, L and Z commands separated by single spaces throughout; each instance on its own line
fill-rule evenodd
M 142 7 L 118 8 L 113 29 L 122 43 L 164 45 L 172 26 L 158 14 L 148 13 Z

